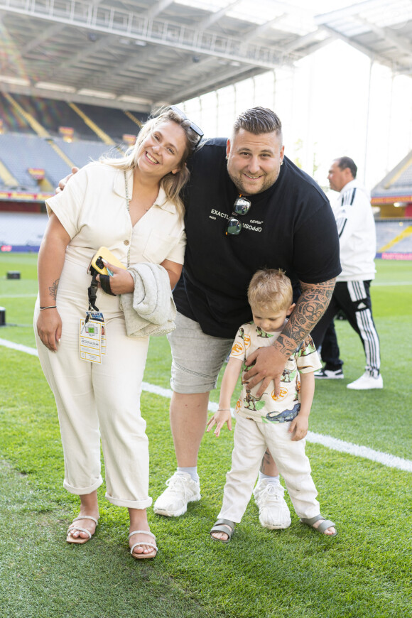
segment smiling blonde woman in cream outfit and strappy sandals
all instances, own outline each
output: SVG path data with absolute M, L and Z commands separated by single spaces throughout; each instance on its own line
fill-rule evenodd
M 148 337 L 128 337 L 119 296 L 97 290 L 107 353 L 102 362 L 80 359 L 81 320 L 89 308 L 88 266 L 100 246 L 123 264 L 161 264 L 173 288 L 185 251 L 180 190 L 186 160 L 202 136 L 175 107 L 149 120 L 124 158 L 104 158 L 73 176 L 46 201 L 50 216 L 38 256 L 35 331 L 39 358 L 58 407 L 65 456 L 64 487 L 80 497 L 68 543 L 86 543 L 99 519 L 100 442 L 106 497 L 129 509 L 134 558 L 154 558 L 156 540 L 146 509 L 148 438 L 139 399 Z M 124 269 L 112 268 L 112 293 L 133 291 Z

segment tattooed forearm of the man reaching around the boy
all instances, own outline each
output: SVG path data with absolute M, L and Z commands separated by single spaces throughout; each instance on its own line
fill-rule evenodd
M 323 283 L 303 283 L 301 281 L 300 286 L 302 294 L 298 298 L 288 324 L 283 329 L 283 335 L 296 342 L 296 345 L 305 339 L 325 313 L 335 288 L 335 279 Z M 278 340 L 280 339 L 281 337 L 278 337 Z M 279 343 L 287 345 L 284 338 Z

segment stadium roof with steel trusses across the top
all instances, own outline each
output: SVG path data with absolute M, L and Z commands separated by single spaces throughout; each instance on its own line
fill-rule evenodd
M 0 0 L 0 90 L 149 112 L 335 39 L 411 75 L 412 2 Z

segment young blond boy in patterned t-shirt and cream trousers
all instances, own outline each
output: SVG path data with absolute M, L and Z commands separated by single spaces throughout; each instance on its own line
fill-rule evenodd
M 248 300 L 253 322 L 242 325 L 234 340 L 220 389 L 219 409 L 207 423 L 219 436 L 224 423 L 232 429 L 230 399 L 244 361 L 259 347 L 271 345 L 280 334 L 295 305 L 290 279 L 281 270 L 257 271 L 251 279 Z M 321 367 L 312 338 L 306 337 L 288 359 L 275 396 L 273 381 L 258 399 L 259 388 L 247 389 L 237 401 L 232 470 L 227 473 L 222 509 L 210 531 L 215 541 L 228 543 L 251 497 L 261 459 L 269 448 L 285 479 L 293 507 L 303 524 L 326 536 L 336 536 L 335 524 L 320 515 L 315 484 L 305 455 L 310 406 L 315 391 L 313 373 Z

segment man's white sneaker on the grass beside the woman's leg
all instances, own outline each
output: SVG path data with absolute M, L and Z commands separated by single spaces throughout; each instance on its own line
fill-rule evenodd
M 166 481 L 165 489 L 153 506 L 153 511 L 166 517 L 178 517 L 188 510 L 189 502 L 200 500 L 200 483 L 194 481 L 188 472 L 175 472 Z

